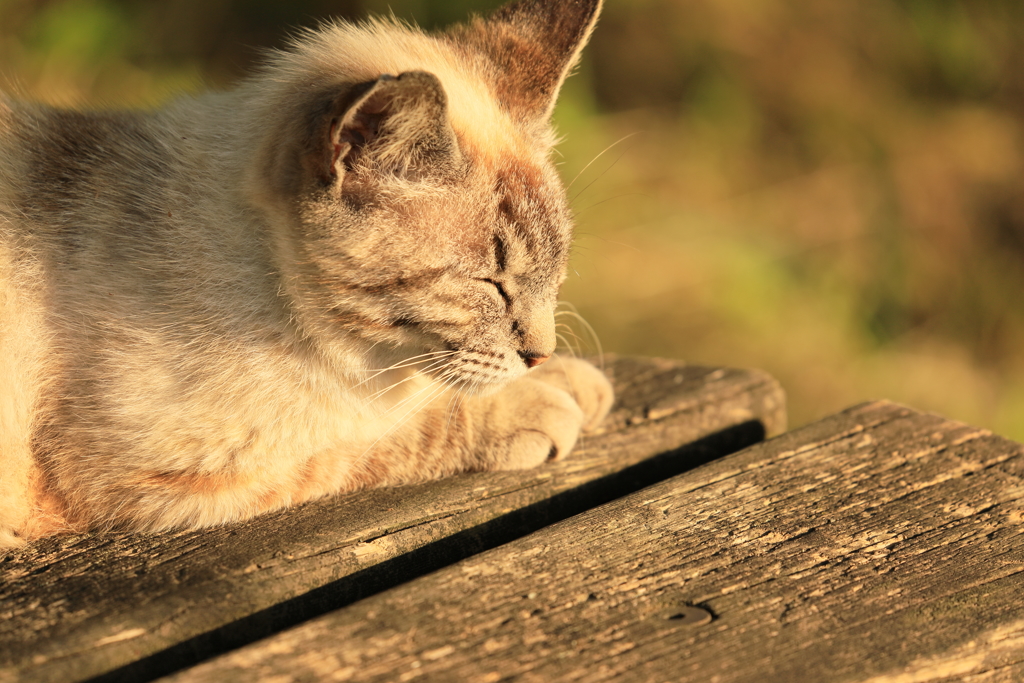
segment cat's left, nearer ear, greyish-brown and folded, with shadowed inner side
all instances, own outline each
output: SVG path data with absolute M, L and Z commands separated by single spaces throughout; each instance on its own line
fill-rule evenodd
M 304 161 L 321 185 L 341 188 L 356 165 L 415 176 L 451 166 L 457 156 L 440 81 L 426 72 L 407 72 L 337 95 L 316 117 Z

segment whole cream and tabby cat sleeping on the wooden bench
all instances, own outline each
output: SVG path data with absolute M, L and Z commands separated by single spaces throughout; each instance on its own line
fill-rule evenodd
M 612 402 L 552 358 L 600 5 L 336 23 L 152 113 L 0 95 L 0 546 L 565 457 Z

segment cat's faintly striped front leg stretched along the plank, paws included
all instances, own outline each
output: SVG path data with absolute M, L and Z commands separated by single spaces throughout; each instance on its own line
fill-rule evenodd
M 439 479 L 467 471 L 536 467 L 564 458 L 582 430 L 596 426 L 612 401 L 608 380 L 592 365 L 553 359 L 494 394 L 452 392 L 425 377 L 373 418 L 378 437 L 342 440 L 312 455 L 268 461 L 294 466 L 260 472 L 160 472 L 110 498 L 138 529 L 206 526 L 244 519 L 324 495 Z M 387 417 L 390 415 L 390 417 Z M 371 418 L 367 418 L 371 419 Z M 269 465 L 268 465 L 269 466 Z M 128 477 L 126 477 L 128 478 Z

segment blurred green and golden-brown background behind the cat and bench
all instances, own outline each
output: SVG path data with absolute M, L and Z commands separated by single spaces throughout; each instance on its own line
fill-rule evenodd
M 328 16 L 498 4 L 0 0 L 0 87 L 155 106 Z M 762 368 L 794 425 L 888 397 L 1024 439 L 1020 0 L 607 0 L 555 118 L 606 350 Z

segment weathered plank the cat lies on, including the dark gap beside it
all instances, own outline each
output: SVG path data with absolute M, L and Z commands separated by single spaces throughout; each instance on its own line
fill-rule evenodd
M 563 463 L 0 556 L 0 681 L 152 679 L 784 429 L 763 373 L 627 358 L 607 370 L 616 407 Z

